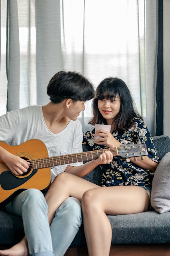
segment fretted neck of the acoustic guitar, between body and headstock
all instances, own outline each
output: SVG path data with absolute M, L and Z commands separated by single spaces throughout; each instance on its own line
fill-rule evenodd
M 53 167 L 53 166 L 63 165 L 63 164 L 90 161 L 93 159 L 97 159 L 100 154 L 108 150 L 112 152 L 113 156 L 118 155 L 118 149 L 112 148 L 112 149 L 101 149 L 101 150 L 87 151 L 82 153 L 33 159 L 30 162 L 32 164 L 33 169 L 41 169 L 41 168 Z

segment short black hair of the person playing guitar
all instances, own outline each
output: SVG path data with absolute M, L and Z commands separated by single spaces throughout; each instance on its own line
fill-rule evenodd
M 94 97 L 95 90 L 91 82 L 83 75 L 77 72 L 60 71 L 49 81 L 47 94 L 53 103 L 60 103 L 65 99 L 87 101 Z

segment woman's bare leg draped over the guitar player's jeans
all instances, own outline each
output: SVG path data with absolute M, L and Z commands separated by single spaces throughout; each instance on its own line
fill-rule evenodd
M 67 172 L 57 175 L 45 196 L 48 204 L 49 223 L 51 224 L 56 209 L 60 207 L 65 199 L 72 196 L 81 201 L 84 192 L 97 187 L 100 188 L 96 184 Z

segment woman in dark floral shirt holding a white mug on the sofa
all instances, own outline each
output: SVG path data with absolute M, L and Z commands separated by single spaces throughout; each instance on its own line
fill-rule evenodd
M 95 136 L 102 138 L 96 140 L 90 132 L 84 133 L 83 144 L 92 150 L 141 142 L 146 144 L 149 154 L 143 161 L 136 157 L 136 161 L 130 158 L 128 163 L 115 156 L 111 163 L 101 164 L 102 187 L 64 172 L 53 181 L 46 201 L 48 217 L 52 220 L 66 198 L 79 199 L 89 256 L 108 256 L 112 228 L 106 214 L 131 214 L 150 209 L 152 178 L 159 158 L 145 123 L 134 109 L 130 91 L 121 79 L 109 77 L 97 87 L 90 124 L 97 123 L 111 125 L 111 133 L 98 130 Z

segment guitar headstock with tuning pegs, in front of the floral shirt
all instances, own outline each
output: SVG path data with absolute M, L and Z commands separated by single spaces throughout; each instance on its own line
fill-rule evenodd
M 127 145 L 121 145 L 117 148 L 118 153 L 123 158 L 129 158 L 129 157 L 135 157 L 141 156 L 141 160 L 143 160 L 144 155 L 148 155 L 148 151 L 146 148 L 146 144 L 127 144 Z

